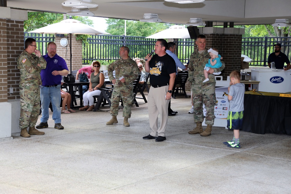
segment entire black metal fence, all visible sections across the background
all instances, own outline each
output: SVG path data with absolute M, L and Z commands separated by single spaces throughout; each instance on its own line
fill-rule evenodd
M 47 43 L 54 41 L 54 36 L 50 34 L 24 33 L 26 38 L 36 39 L 37 47 L 42 54 L 46 54 Z M 88 40 L 88 45 L 83 45 L 83 64 L 88 64 L 93 60 L 109 64 L 119 58 L 119 48 L 129 47 L 131 58 L 145 58 L 155 47 L 156 39 L 135 36 L 117 35 L 92 35 Z M 178 58 L 182 63 L 187 63 L 191 53 L 194 51 L 195 41 L 192 39 L 176 39 L 178 45 Z M 268 56 L 274 51 L 274 44 L 282 45 L 281 51 L 288 58 L 291 57 L 291 37 L 260 37 L 242 38 L 242 54 L 250 57 L 250 65 L 266 66 Z

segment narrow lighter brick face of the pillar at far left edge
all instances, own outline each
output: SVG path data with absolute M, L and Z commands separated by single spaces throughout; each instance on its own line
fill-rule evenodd
M 0 18 L 0 102 L 7 102 L 7 35 L 6 19 Z

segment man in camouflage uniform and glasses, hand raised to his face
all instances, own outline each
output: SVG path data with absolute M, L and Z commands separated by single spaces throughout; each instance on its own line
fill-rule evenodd
M 20 71 L 20 136 L 43 135 L 45 132 L 35 129 L 40 111 L 40 70 L 46 68 L 46 61 L 36 49 L 36 40 L 27 38 L 25 49 L 17 58 L 17 68 Z M 35 54 L 33 54 L 35 53 Z M 27 127 L 29 132 L 27 133 Z

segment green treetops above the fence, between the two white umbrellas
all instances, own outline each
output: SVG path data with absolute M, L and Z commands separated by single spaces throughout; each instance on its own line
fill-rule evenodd
M 106 32 L 112 35 L 123 35 L 125 30 L 124 19 L 106 19 L 108 24 Z M 166 23 L 149 23 L 127 20 L 126 21 L 126 35 L 127 36 L 150 36 L 159 31 L 168 29 L 173 24 Z

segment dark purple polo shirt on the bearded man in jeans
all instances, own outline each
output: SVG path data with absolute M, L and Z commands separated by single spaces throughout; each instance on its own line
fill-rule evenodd
M 55 76 L 52 74 L 52 72 L 55 70 L 68 70 L 66 61 L 57 54 L 52 58 L 50 58 L 48 54 L 46 54 L 45 56 L 43 56 L 43 58 L 47 61 L 47 67 L 40 72 L 42 86 L 53 86 L 61 84 L 62 76 Z

